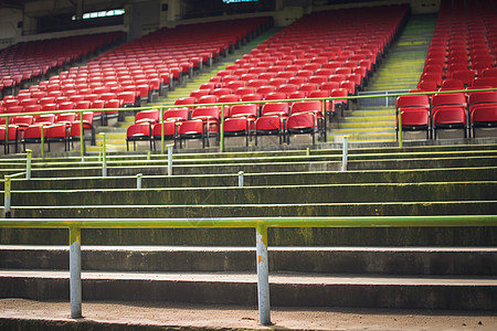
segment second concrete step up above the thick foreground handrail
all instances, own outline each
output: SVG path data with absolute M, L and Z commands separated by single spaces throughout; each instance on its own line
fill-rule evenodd
M 497 181 L 275 185 L 247 188 L 156 188 L 13 190 L 12 206 L 352 203 L 497 200 Z M 3 196 L 3 194 L 1 194 Z M 118 199 L 117 199 L 118 196 Z

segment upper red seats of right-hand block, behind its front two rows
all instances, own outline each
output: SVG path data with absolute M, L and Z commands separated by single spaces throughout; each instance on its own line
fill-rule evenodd
M 429 49 L 420 90 L 436 90 L 444 78 L 466 86 L 495 87 L 496 7 L 488 1 L 443 1 Z

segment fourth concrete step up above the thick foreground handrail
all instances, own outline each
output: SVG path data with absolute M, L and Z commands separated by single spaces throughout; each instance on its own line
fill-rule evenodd
M 446 153 L 444 157 L 430 158 L 430 156 L 412 156 L 411 158 L 378 158 L 353 160 L 349 159 L 347 163 L 348 170 L 389 170 L 389 169 L 436 169 L 436 168 L 473 168 L 473 167 L 495 167 L 497 164 L 497 157 L 491 154 L 476 154 L 476 156 L 457 156 Z M 70 164 L 61 164 L 61 167 L 51 167 L 34 169 L 33 178 L 51 178 L 51 177 L 101 177 L 102 162 L 94 164 L 80 164 L 71 167 Z M 262 173 L 262 172 L 305 172 L 305 171 L 340 171 L 342 166 L 341 157 L 335 156 L 328 160 L 310 160 L 306 158 L 278 160 L 266 159 L 253 162 L 251 160 L 225 160 L 224 162 L 187 162 L 181 164 L 173 161 L 173 175 L 181 174 L 236 174 L 240 171 L 245 173 Z M 11 174 L 19 172 L 22 167 L 7 168 L 0 170 L 0 174 Z M 107 175 L 136 175 L 142 173 L 145 175 L 165 175 L 168 173 L 168 166 L 166 162 L 151 164 L 149 162 L 129 163 L 128 166 L 108 164 Z

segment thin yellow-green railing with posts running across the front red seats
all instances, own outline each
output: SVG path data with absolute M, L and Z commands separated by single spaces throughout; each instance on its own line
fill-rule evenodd
M 472 89 L 470 92 L 489 92 L 489 90 L 497 90 L 497 88 L 479 88 L 479 89 Z M 326 97 L 326 98 L 298 98 L 298 99 L 282 99 L 282 100 L 262 100 L 262 102 L 239 102 L 239 103 L 219 103 L 219 104 L 195 104 L 195 105 L 172 105 L 172 106 L 166 106 L 166 105 L 154 105 L 148 107 L 129 107 L 129 108 L 104 108 L 104 109 L 68 109 L 68 110 L 54 110 L 50 111 L 50 114 L 66 114 L 66 113 L 75 113 L 80 114 L 80 121 L 81 121 L 81 158 L 84 160 L 84 139 L 83 139 L 83 113 L 87 111 L 140 111 L 140 110 L 150 110 L 150 109 L 160 109 L 160 122 L 162 124 L 161 129 L 161 139 L 160 139 L 160 152 L 161 154 L 165 153 L 166 146 L 165 146 L 165 137 L 163 137 L 163 110 L 170 109 L 170 108 L 179 108 L 179 107 L 189 107 L 189 108 L 198 108 L 198 107 L 209 107 L 209 106 L 219 106 L 223 111 L 221 111 L 221 122 L 220 122 L 220 151 L 224 151 L 224 107 L 226 106 L 234 106 L 234 105 L 246 105 L 246 104 L 255 104 L 255 105 L 263 105 L 268 103 L 296 103 L 296 102 L 306 102 L 306 100 L 319 100 L 322 102 L 322 111 L 326 115 L 326 100 L 337 100 L 337 99 L 347 99 L 347 100 L 358 100 L 358 99 L 368 99 L 368 98 L 384 98 L 384 97 L 400 97 L 404 95 L 434 95 L 434 94 L 450 94 L 450 93 L 467 93 L 466 89 L 455 89 L 455 90 L 440 90 L 440 92 L 415 92 L 415 93 L 398 93 L 398 94 L 389 94 L 389 95 L 364 95 L 364 96 L 347 96 L 347 97 Z M 7 146 L 9 143 L 9 137 L 8 137 L 8 127 L 9 127 L 9 118 L 15 117 L 15 116 L 25 116 L 25 115 L 42 115 L 47 114 L 46 111 L 36 111 L 36 113 L 15 113 L 15 114 L 0 114 L 0 118 L 6 118 L 6 137 L 4 137 L 4 146 L 6 146 L 6 152 L 7 152 Z M 325 120 L 326 122 L 326 120 Z M 326 134 L 325 134 L 326 139 Z M 325 140 L 326 141 L 326 140 Z M 402 138 L 400 140 L 400 147 L 402 147 Z M 43 148 L 43 135 L 42 135 L 42 156 L 44 152 Z

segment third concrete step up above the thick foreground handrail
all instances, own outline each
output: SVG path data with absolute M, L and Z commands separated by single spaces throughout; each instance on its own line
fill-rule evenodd
M 415 183 L 491 181 L 497 167 L 420 169 L 420 170 L 374 170 L 374 171 L 308 171 L 246 173 L 244 186 L 268 186 L 288 184 L 350 184 L 350 183 Z M 33 178 L 13 179 L 15 190 L 84 190 L 84 189 L 136 189 L 136 177 L 84 177 L 84 178 Z M 141 188 L 205 188 L 237 186 L 239 174 L 199 175 L 144 175 Z

